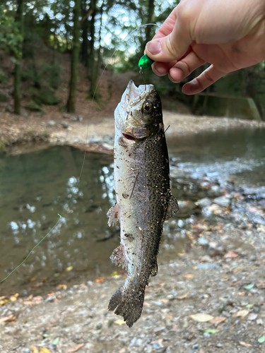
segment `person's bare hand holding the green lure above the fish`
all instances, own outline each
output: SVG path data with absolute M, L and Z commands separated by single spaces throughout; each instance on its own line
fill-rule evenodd
M 265 60 L 265 1 L 182 0 L 145 52 L 155 61 L 153 72 L 174 83 L 210 63 L 182 88 L 199 93 L 226 73 Z

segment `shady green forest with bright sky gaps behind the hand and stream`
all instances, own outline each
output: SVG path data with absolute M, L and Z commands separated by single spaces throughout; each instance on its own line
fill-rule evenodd
M 0 100 L 10 102 L 6 109 L 20 114 L 21 107 L 43 112 L 42 104 L 59 104 L 58 109 L 76 110 L 78 65 L 85 68 L 82 79 L 88 83 L 86 99 L 100 103 L 95 89 L 102 70 L 114 73 L 138 71 L 138 61 L 146 42 L 178 1 L 160 0 L 39 0 L 3 1 L 0 4 Z M 156 25 L 146 25 L 154 23 Z M 65 57 L 71 56 L 67 76 Z M 4 65 L 8 61 L 8 68 Z M 197 76 L 207 64 L 188 78 Z M 146 79 L 150 72 L 145 72 Z M 66 102 L 57 91 L 68 80 Z M 165 96 L 194 107 L 194 97 L 182 94 L 182 85 L 165 78 L 155 82 Z M 151 79 L 153 80 L 153 78 Z M 10 87 L 11 93 L 6 93 Z M 265 120 L 265 64 L 230 73 L 206 93 L 251 97 Z M 203 114 L 197 109 L 195 114 Z

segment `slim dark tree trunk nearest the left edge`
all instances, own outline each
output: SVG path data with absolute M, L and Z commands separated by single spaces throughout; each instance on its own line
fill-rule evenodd
M 16 12 L 16 21 L 18 22 L 18 27 L 20 28 L 20 34 L 23 36 L 24 26 L 23 26 L 23 0 L 18 0 L 18 9 Z M 18 50 L 18 54 L 16 54 L 16 65 L 14 72 L 14 113 L 20 114 L 20 83 L 21 83 L 21 73 L 20 73 L 20 65 L 21 65 L 21 57 L 22 57 L 22 49 L 23 49 L 23 38 L 20 43 L 20 48 Z

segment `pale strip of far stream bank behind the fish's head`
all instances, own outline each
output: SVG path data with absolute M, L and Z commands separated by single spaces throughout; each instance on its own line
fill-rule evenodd
M 169 137 L 225 128 L 265 127 L 265 122 L 261 121 L 198 117 L 167 111 L 164 112 L 164 123 L 165 128 L 170 126 L 167 129 Z M 105 145 L 102 148 L 102 138 L 114 136 L 113 112 L 107 116 L 102 114 L 93 116 L 93 119 L 88 116 L 59 112 L 45 116 L 40 114 L 16 116 L 6 112 L 0 114 L 0 126 L 0 150 L 10 153 L 28 150 L 29 142 L 37 142 L 35 146 L 30 145 L 30 149 L 37 148 L 37 145 L 43 142 L 47 145 L 66 144 L 86 150 L 107 151 L 112 148 L 112 145 Z

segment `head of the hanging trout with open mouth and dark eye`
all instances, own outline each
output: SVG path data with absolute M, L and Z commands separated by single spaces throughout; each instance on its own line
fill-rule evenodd
M 125 138 L 142 140 L 163 128 L 162 107 L 154 85 L 136 87 L 129 81 L 114 112 L 115 124 Z

